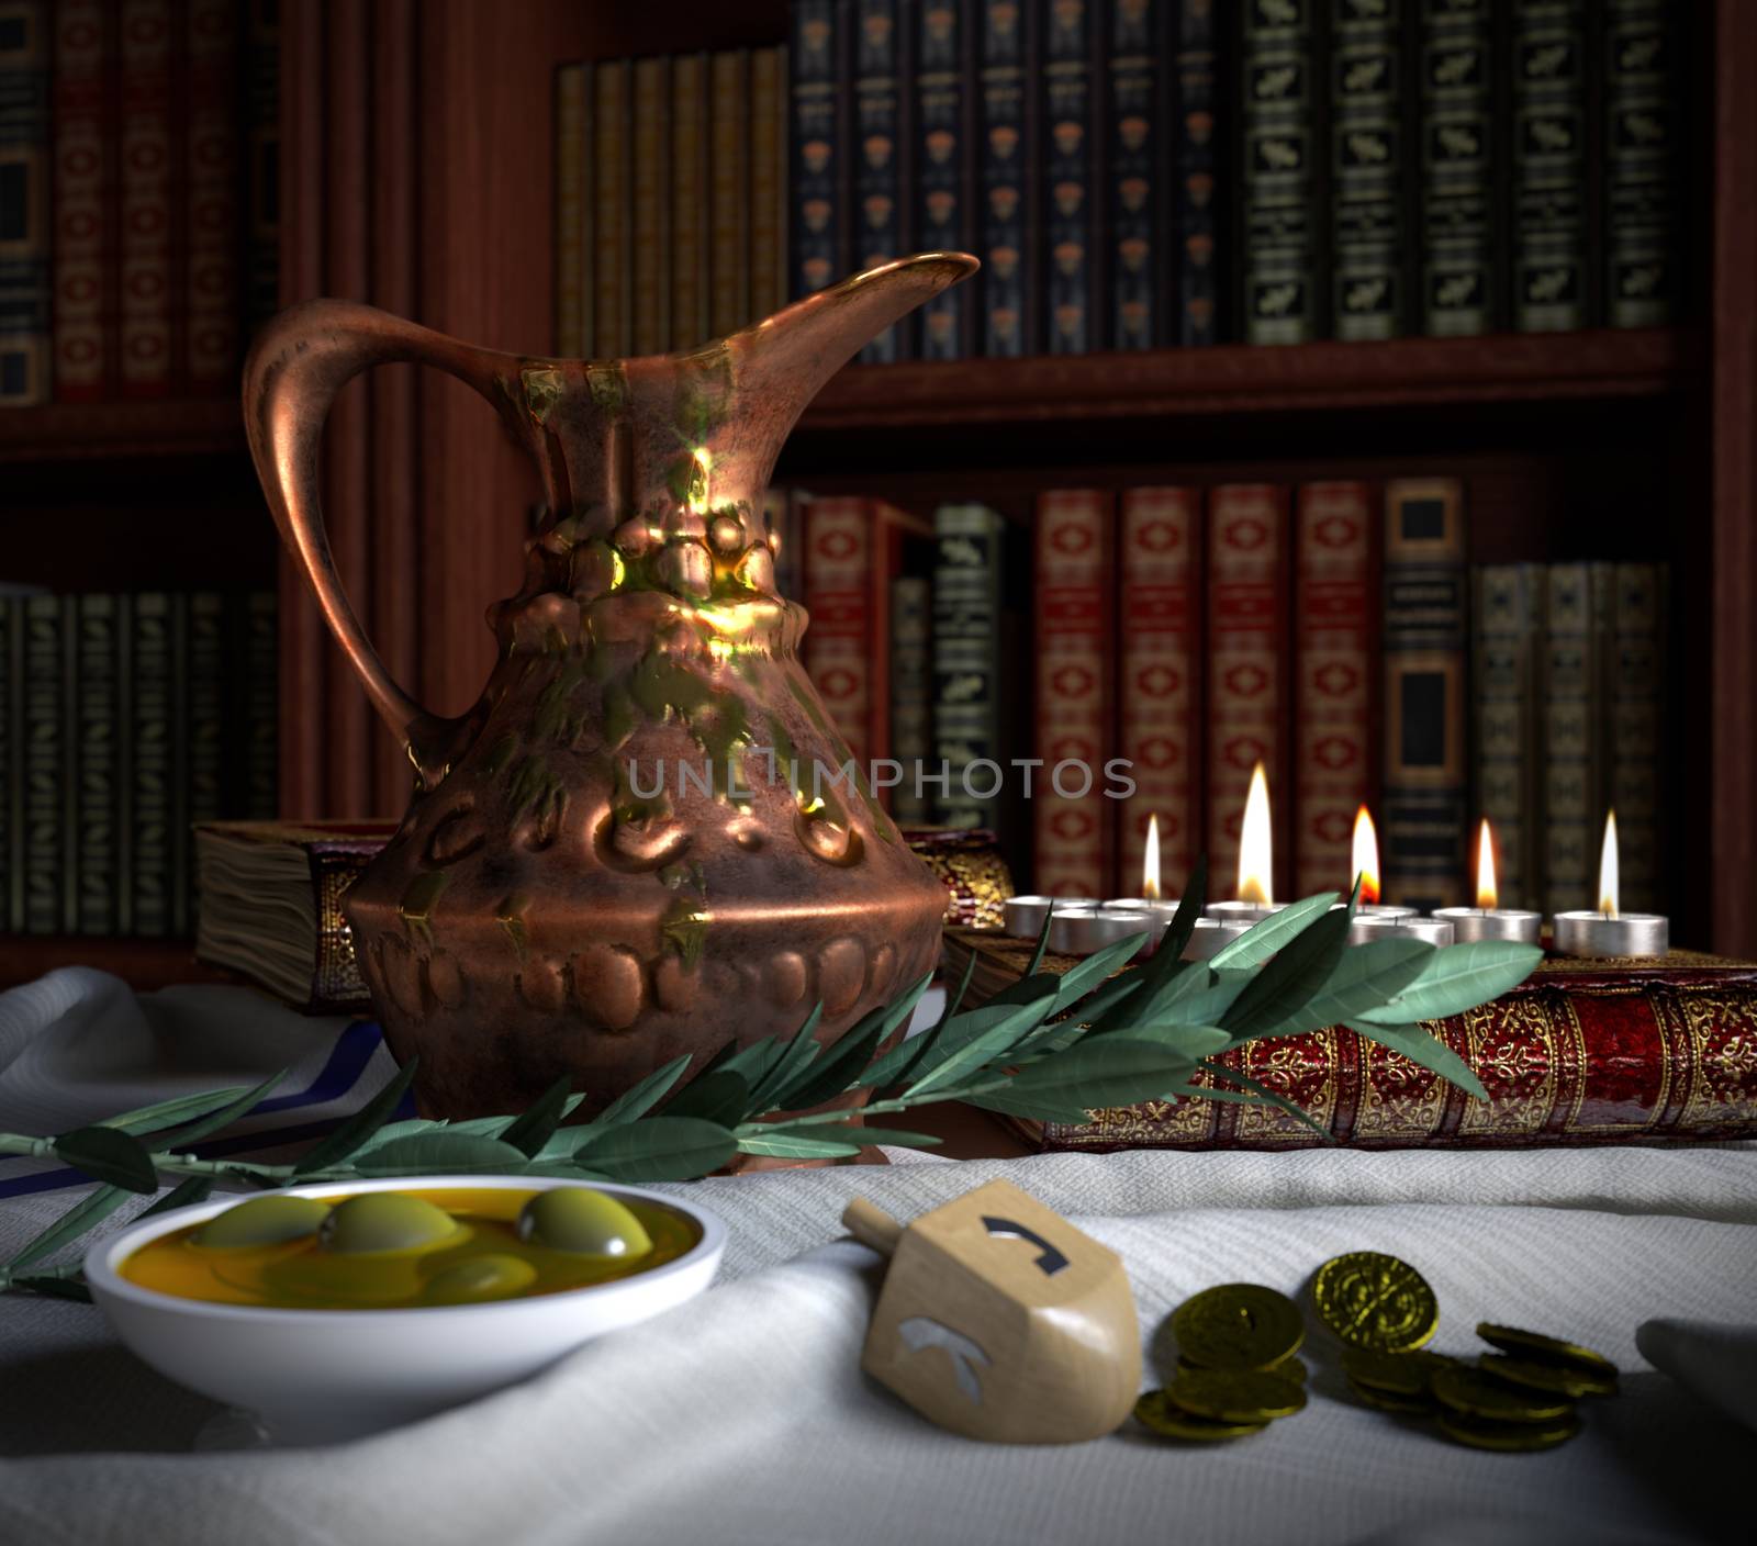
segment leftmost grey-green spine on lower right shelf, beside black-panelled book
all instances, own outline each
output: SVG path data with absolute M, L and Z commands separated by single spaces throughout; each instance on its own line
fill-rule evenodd
M 1499 905 L 1543 903 L 1539 650 L 1544 574 L 1536 564 L 1476 571 L 1471 629 L 1476 689 L 1476 806 L 1495 834 Z M 1474 861 L 1469 870 L 1474 875 Z M 1474 901 L 1474 898 L 1472 898 Z

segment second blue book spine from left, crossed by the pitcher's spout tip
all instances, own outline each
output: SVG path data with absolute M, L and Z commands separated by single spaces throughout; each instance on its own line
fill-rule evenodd
M 896 0 L 856 0 L 854 9 L 854 262 L 889 264 L 903 251 L 903 28 Z M 901 357 L 905 329 L 887 327 L 861 348 L 861 364 Z

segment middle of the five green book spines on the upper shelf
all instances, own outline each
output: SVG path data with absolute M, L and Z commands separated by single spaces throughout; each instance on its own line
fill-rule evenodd
M 1495 118 L 1483 0 L 1421 0 L 1421 330 L 1488 332 L 1497 313 Z

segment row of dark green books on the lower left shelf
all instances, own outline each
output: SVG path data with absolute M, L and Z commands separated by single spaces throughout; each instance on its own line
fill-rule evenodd
M 193 931 L 192 822 L 276 813 L 276 597 L 0 597 L 0 933 Z

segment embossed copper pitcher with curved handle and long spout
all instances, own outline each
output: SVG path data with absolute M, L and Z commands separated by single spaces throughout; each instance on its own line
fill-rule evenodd
M 849 748 L 799 664 L 806 615 L 775 592 L 761 495 L 824 381 L 975 267 L 903 258 L 638 360 L 494 353 L 343 300 L 260 334 L 257 474 L 415 766 L 346 910 L 390 1049 L 420 1054 L 423 1114 L 517 1110 L 560 1073 L 597 1110 L 680 1052 L 789 1033 L 817 1001 L 829 1037 L 933 964 L 945 891 L 864 780 L 833 777 Z M 494 404 L 548 506 L 459 719 L 390 680 L 318 506 L 336 394 L 392 360 Z

